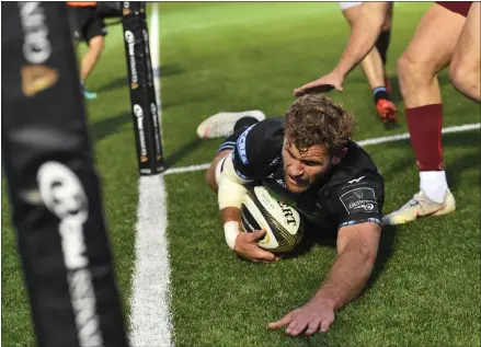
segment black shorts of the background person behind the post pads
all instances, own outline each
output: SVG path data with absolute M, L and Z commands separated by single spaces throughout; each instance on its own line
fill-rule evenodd
M 76 39 L 89 43 L 95 36 L 107 34 L 107 27 L 95 7 L 68 7 L 68 13 Z

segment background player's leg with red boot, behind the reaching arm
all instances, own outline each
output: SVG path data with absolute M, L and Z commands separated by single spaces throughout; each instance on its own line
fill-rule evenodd
M 340 3 L 343 10 L 343 15 L 352 26 L 357 18 L 362 14 L 362 2 Z M 387 49 L 390 41 L 390 18 L 387 18 L 382 25 L 382 32 L 378 37 L 376 47 L 374 47 L 369 54 L 360 62 L 360 69 L 369 83 L 373 91 L 374 103 L 376 109 L 382 123 L 386 125 L 392 125 L 398 120 L 398 114 L 394 104 L 391 102 L 390 91 L 387 88 L 387 74 L 385 70 Z M 382 49 L 382 55 L 378 50 L 378 47 Z

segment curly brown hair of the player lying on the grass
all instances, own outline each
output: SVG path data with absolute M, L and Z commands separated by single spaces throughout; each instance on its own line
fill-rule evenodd
M 354 127 L 353 115 L 322 94 L 297 99 L 284 115 L 285 136 L 300 152 L 323 144 L 330 154 L 335 154 L 347 142 Z

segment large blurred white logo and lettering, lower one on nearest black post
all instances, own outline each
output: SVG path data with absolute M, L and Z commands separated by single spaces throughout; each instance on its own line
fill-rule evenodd
M 59 219 L 58 232 L 79 345 L 103 346 L 92 274 L 85 255 L 83 224 L 89 218 L 89 201 L 82 183 L 68 166 L 54 161 L 38 169 L 37 182 L 42 200 Z

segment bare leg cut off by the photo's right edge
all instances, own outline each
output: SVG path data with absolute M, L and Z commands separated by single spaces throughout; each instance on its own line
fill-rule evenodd
M 449 76 L 458 91 L 481 102 L 480 92 L 480 3 L 473 2 L 449 66 Z

